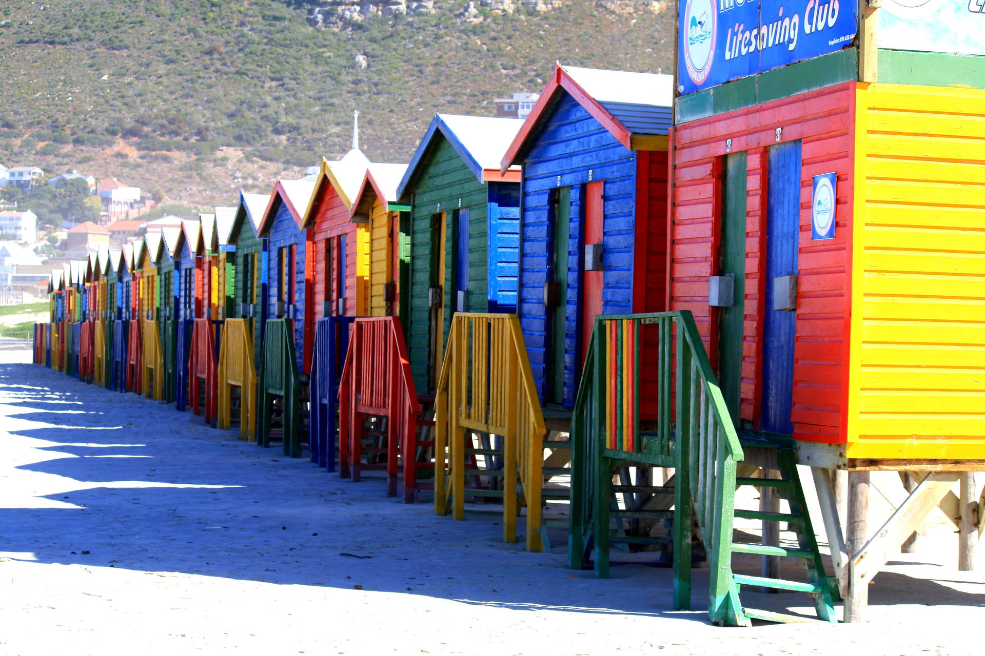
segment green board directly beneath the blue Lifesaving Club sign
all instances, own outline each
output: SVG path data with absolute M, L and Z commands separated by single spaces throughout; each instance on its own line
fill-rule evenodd
M 883 82 L 882 59 L 879 68 L 880 82 Z M 680 125 L 851 80 L 858 80 L 858 53 L 854 48 L 845 48 L 711 89 L 682 95 L 675 102 L 675 123 Z

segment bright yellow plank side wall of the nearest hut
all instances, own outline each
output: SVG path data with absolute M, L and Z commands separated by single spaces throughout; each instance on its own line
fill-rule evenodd
M 983 459 L 985 91 L 860 88 L 857 126 L 847 455 Z

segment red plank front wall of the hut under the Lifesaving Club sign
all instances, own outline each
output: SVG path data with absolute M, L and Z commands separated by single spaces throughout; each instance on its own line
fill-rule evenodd
M 745 327 L 741 418 L 758 427 L 766 280 L 760 275 L 765 246 L 767 150 L 803 140 L 798 266 L 797 332 L 794 347 L 794 437 L 817 442 L 844 439 L 842 363 L 847 348 L 847 252 L 852 219 L 854 83 L 774 100 L 675 128 L 674 200 L 671 234 L 671 309 L 689 310 L 716 362 L 718 312 L 708 307 L 708 276 L 718 271 L 721 158 L 747 151 Z M 831 241 L 811 241 L 811 194 L 815 175 L 836 172 L 837 224 Z

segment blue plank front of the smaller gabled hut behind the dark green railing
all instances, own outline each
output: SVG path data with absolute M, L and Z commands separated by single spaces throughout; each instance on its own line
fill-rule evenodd
M 294 278 L 294 337 L 295 354 L 297 367 L 302 372 L 308 372 L 311 368 L 311 349 L 314 337 L 314 322 L 311 317 L 311 294 L 310 287 L 314 271 L 307 267 L 307 260 L 311 256 L 311 229 L 298 229 L 297 221 L 291 213 L 291 209 L 279 197 L 270 209 L 274 212 L 269 225 L 264 229 L 264 235 L 268 239 L 268 267 L 267 267 L 267 316 L 277 318 L 278 302 L 278 272 L 281 270 L 281 249 L 286 249 L 286 253 L 295 247 L 294 270 L 289 271 L 288 275 Z

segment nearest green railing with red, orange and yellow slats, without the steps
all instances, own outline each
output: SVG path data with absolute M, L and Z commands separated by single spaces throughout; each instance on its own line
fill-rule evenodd
M 611 503 L 605 462 L 673 464 L 675 606 L 690 603 L 693 503 L 711 567 L 709 616 L 736 619 L 732 517 L 742 459 L 689 312 L 597 317 L 571 419 L 569 566 L 581 567 L 589 540 L 608 548 L 609 518 L 599 510 Z

